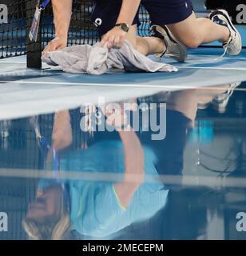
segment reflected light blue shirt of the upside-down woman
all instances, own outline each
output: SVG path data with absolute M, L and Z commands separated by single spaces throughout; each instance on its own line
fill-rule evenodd
M 153 151 L 144 147 L 145 174 L 157 175 Z M 63 171 L 119 173 L 125 171 L 123 145 L 120 141 L 102 141 L 88 150 L 72 151 L 61 161 Z M 121 206 L 112 182 L 67 181 L 70 217 L 73 229 L 93 237 L 106 237 L 133 222 L 153 217 L 165 206 L 168 190 L 161 182 L 144 183 L 133 195 L 129 206 Z

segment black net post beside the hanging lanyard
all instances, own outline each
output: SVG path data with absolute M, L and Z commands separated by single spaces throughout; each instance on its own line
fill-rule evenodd
M 27 40 L 27 54 L 26 63 L 29 68 L 42 68 L 42 34 L 41 26 L 38 28 L 38 39 L 37 42 L 30 42 L 29 32 L 30 27 L 34 18 L 36 6 L 38 0 L 26 1 L 26 40 Z M 42 17 L 41 17 L 42 18 Z

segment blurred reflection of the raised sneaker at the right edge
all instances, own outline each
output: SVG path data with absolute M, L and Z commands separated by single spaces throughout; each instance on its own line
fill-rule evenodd
M 217 110 L 220 114 L 223 114 L 228 106 L 229 99 L 231 98 L 234 90 L 237 86 L 240 86 L 241 82 L 235 82 L 230 84 L 227 91 L 223 94 L 219 94 L 215 98 L 212 99 L 212 106 L 215 110 Z

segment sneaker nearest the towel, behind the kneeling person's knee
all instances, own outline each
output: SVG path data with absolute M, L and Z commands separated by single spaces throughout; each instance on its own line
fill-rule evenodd
M 150 34 L 153 37 L 161 38 L 165 43 L 165 51 L 158 54 L 158 58 L 166 55 L 176 59 L 177 62 L 185 62 L 187 58 L 186 47 L 173 36 L 167 26 L 153 25 L 150 28 Z

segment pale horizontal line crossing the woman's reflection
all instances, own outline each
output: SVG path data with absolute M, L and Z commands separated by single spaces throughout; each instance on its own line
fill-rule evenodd
M 58 173 L 59 179 L 76 180 L 86 182 L 137 182 L 141 177 L 140 174 L 119 174 L 119 173 L 89 173 L 67 171 Z M 44 178 L 54 179 L 54 171 L 50 170 L 20 170 L 20 169 L 0 169 L 0 177 L 7 178 Z M 157 175 L 146 174 L 146 183 L 163 182 L 165 185 L 180 186 L 209 186 L 217 189 L 221 188 L 244 188 L 246 187 L 245 178 L 226 178 L 226 177 L 208 177 L 197 175 Z

